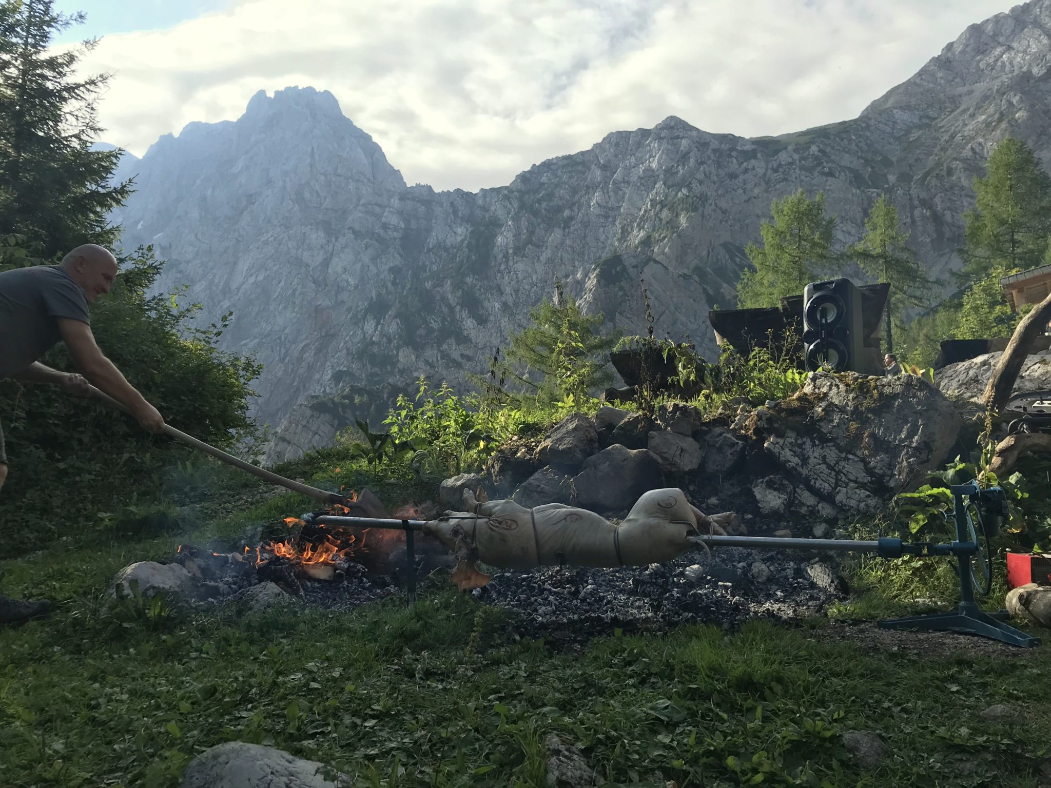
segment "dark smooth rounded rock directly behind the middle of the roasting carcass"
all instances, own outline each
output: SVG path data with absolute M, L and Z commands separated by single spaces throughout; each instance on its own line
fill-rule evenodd
M 619 443 L 589 457 L 573 477 L 578 505 L 599 513 L 632 506 L 644 492 L 663 483 L 653 452 Z

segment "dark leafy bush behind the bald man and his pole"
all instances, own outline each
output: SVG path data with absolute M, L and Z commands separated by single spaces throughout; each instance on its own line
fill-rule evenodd
M 146 295 L 161 266 L 150 249 L 123 260 L 112 292 L 92 307 L 92 331 L 103 352 L 172 427 L 233 449 L 253 434 L 248 398 L 260 367 L 215 347 L 225 320 L 193 327 L 195 307 Z M 43 361 L 74 371 L 62 345 Z M 186 453 L 130 417 L 53 386 L 0 380 L 0 413 L 11 461 L 0 495 L 3 552 L 59 534 L 58 524 L 40 524 L 42 512 L 61 509 L 67 517 L 63 528 L 83 526 L 97 524 L 95 511 L 112 511 L 122 499 L 159 497 L 166 471 Z

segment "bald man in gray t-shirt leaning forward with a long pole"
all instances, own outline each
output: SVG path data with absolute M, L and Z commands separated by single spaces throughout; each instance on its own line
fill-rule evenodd
M 56 383 L 79 396 L 88 395 L 90 381 L 123 403 L 143 428 L 161 432 L 161 414 L 102 354 L 91 334 L 87 307 L 108 293 L 116 278 L 117 260 L 96 244 L 78 246 L 59 266 L 0 273 L 0 378 Z M 38 360 L 60 339 L 82 375 L 59 372 Z M 0 488 L 6 478 L 7 456 L 0 426 Z M 0 624 L 22 621 L 49 608 L 46 600 L 20 602 L 0 597 Z

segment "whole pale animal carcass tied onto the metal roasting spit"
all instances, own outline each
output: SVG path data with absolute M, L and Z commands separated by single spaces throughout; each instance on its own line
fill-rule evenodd
M 476 561 L 512 569 L 660 563 L 706 547 L 701 534 L 724 536 L 723 525 L 737 518 L 733 512 L 708 517 L 678 489 L 643 494 L 620 525 L 560 503 L 530 510 L 507 499 L 478 502 L 470 491 L 463 500 L 468 512 L 450 512 L 448 519 L 424 524 L 425 534 L 456 553 L 452 579 L 461 590 L 489 582 Z

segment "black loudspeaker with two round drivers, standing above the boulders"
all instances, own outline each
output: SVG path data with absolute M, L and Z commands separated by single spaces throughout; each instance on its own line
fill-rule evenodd
M 836 372 L 862 368 L 861 290 L 850 279 L 811 282 L 803 288 L 803 353 L 806 369 Z

